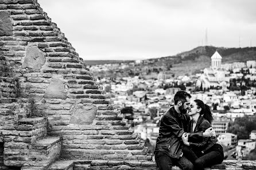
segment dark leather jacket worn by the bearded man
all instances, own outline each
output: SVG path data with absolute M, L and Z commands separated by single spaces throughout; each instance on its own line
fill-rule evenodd
M 165 152 L 172 158 L 182 156 L 183 141 L 181 136 L 188 132 L 190 117 L 188 114 L 177 113 L 172 106 L 161 118 L 159 136 L 154 152 Z M 189 139 L 203 139 L 203 132 L 191 133 Z

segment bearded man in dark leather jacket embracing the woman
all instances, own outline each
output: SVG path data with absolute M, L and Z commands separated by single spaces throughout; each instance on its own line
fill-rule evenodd
M 187 114 L 191 95 L 179 91 L 174 96 L 172 106 L 161 118 L 159 136 L 157 137 L 155 159 L 161 170 L 171 170 L 173 165 L 181 169 L 192 170 L 193 164 L 183 156 L 183 142 L 181 137 L 187 135 L 190 117 Z M 209 128 L 204 133 L 191 133 L 189 137 L 214 136 L 215 132 Z

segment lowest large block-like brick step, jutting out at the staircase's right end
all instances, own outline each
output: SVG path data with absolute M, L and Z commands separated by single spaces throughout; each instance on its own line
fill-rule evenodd
M 28 161 L 21 169 L 47 169 L 60 156 L 61 138 L 46 136 L 31 145 L 30 157 L 33 161 Z

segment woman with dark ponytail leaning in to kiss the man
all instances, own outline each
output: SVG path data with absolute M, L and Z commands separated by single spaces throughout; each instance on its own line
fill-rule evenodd
M 211 127 L 213 120 L 210 107 L 205 105 L 201 100 L 194 100 L 190 104 L 188 114 L 192 117 L 189 124 L 189 132 L 204 132 Z M 222 145 L 218 144 L 215 137 L 204 137 L 203 141 L 191 140 L 188 141 L 188 135 L 182 137 L 183 143 L 189 146 L 195 152 L 198 159 L 193 162 L 194 168 L 197 170 L 204 170 L 205 167 L 220 164 L 224 159 Z M 184 152 L 184 155 L 186 152 Z M 191 154 L 191 153 L 189 153 Z

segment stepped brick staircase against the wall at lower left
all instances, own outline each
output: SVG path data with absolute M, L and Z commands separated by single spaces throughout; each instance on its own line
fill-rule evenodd
M 47 136 L 46 117 L 30 117 L 30 99 L 1 99 L 3 164 L 21 169 L 47 169 L 59 159 L 61 138 Z

